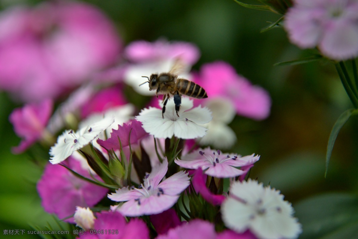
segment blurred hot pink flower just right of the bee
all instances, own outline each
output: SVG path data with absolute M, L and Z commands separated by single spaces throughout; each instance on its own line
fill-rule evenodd
M 262 120 L 270 114 L 271 99 L 267 91 L 237 75 L 226 62 L 204 64 L 195 83 L 205 89 L 210 99 L 229 99 L 239 115 Z

